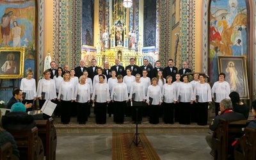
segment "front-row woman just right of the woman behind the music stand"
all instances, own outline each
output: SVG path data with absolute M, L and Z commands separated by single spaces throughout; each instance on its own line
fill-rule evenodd
M 152 78 L 152 85 L 148 86 L 147 104 L 149 106 L 149 123 L 159 124 L 159 105 L 162 104 L 162 91 L 157 85 L 157 78 Z

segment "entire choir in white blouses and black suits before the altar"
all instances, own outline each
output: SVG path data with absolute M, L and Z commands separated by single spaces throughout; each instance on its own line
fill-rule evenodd
M 218 115 L 219 102 L 229 98 L 230 86 L 224 80 L 225 74 L 219 75 L 212 89 L 205 83 L 205 74 L 193 74 L 194 80 L 189 82 L 186 73 L 191 70 L 186 61 L 180 70 L 173 66 L 172 59 L 165 68 L 160 67 L 160 61 L 153 68 L 147 59 L 141 67 L 134 64 L 134 58 L 125 68 L 119 63 L 116 59 L 109 69 L 109 63 L 105 62 L 103 69 L 96 66 L 95 59 L 91 67 L 84 67 L 84 60 L 80 60 L 79 67 L 68 70 L 67 65 L 56 69 L 52 61 L 51 68 L 38 81 L 37 90 L 33 72 L 28 70 L 20 85 L 20 90 L 26 92 L 23 102 L 33 103 L 38 99 L 42 108 L 46 99 L 51 100 L 57 104 L 54 115 L 61 116 L 63 124 L 68 124 L 71 116 L 77 116 L 77 122 L 85 124 L 94 106 L 97 124 L 106 124 L 106 116 L 113 114 L 116 124 L 123 124 L 125 116 L 132 116 L 137 123 L 147 116 L 150 124 L 158 124 L 163 116 L 165 124 L 207 125 L 209 102 L 215 101 Z

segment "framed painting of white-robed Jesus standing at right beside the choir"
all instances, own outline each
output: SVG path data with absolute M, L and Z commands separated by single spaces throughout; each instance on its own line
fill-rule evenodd
M 230 92 L 239 93 L 240 99 L 249 99 L 245 56 L 218 56 L 218 71 L 226 74 Z

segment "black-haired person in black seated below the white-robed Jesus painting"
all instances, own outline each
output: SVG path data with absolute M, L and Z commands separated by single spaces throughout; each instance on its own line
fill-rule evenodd
M 241 102 L 239 93 L 231 92 L 229 97 L 232 102 L 233 110 L 235 112 L 242 113 L 247 120 L 249 116 L 249 109 L 247 108 L 246 104 Z

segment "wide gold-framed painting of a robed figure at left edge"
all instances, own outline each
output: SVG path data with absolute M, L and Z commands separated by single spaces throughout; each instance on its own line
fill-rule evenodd
M 24 54 L 24 47 L 0 48 L 0 79 L 23 78 Z

